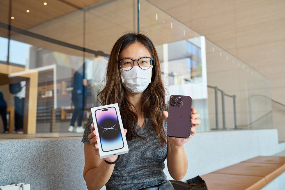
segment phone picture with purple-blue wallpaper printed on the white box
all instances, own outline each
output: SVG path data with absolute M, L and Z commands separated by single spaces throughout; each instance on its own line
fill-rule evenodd
M 97 109 L 95 111 L 101 148 L 104 152 L 118 150 L 124 147 L 124 142 L 114 107 Z

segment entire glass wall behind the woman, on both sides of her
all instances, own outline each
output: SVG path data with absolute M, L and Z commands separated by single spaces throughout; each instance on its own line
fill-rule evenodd
M 27 110 L 23 113 L 24 125 L 28 127 L 27 122 L 33 120 L 36 133 L 81 136 L 63 134 L 67 133 L 74 111 L 74 74 L 80 72 L 88 81 L 84 126 L 90 107 L 97 105 L 95 98 L 111 48 L 129 31 L 145 33 L 154 42 L 168 89 L 166 100 L 170 94 L 193 98 L 193 107 L 202 120 L 197 131 L 261 128 L 254 121 L 272 111 L 269 102 L 250 100 L 252 95 L 270 97 L 267 77 L 146 0 L 139 0 L 139 4 L 133 0 L 95 4 L 50 1 L 47 5 L 36 0 L 11 2 L 4 0 L 0 4 L 0 70 L 4 65 L 6 69 L 1 70 L 0 77 L 11 77 L 12 67 L 38 72 L 37 93 L 33 94 L 36 106 L 31 111 L 34 114 L 28 118 Z M 29 7 L 31 4 L 36 9 Z M 20 12 L 19 7 L 29 13 Z M 27 77 L 21 80 L 30 82 Z M 8 108 L 14 108 L 15 95 L 9 93 L 11 80 L 3 81 L 0 91 Z M 209 86 L 220 89 L 217 97 Z M 222 92 L 226 95 L 222 96 Z M 25 100 L 25 107 L 30 104 Z M 262 119 L 272 121 L 272 116 Z M 2 123 L 0 130 L 1 127 Z M 266 128 L 272 128 L 270 122 Z

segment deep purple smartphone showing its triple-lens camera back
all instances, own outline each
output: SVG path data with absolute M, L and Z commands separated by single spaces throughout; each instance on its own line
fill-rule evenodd
M 191 135 L 190 96 L 171 95 L 169 99 L 167 136 L 189 138 Z

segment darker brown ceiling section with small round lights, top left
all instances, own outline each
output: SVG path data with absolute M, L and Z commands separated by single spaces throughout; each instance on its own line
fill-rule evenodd
M 1 0 L 0 21 L 21 29 L 29 29 L 99 1 L 102 0 Z

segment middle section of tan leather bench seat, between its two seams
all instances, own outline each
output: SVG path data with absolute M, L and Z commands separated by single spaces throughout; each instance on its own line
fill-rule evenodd
M 285 171 L 284 164 L 241 162 L 214 171 L 213 173 L 259 176 L 259 177 L 264 177 L 266 183 L 268 183 L 284 171 Z

